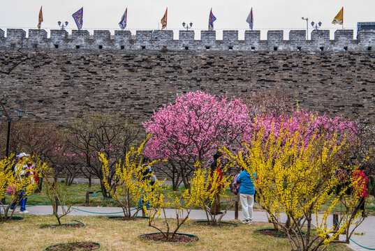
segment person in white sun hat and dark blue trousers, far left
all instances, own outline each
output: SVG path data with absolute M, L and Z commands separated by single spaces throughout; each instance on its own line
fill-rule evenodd
M 26 153 L 20 153 L 19 155 L 16 155 L 18 161 L 14 166 L 14 172 L 15 180 L 18 182 L 24 181 L 24 178 L 29 178 L 29 173 L 32 172 L 31 169 L 27 166 L 26 160 L 28 156 L 29 154 Z M 18 198 L 20 200 L 20 213 L 24 214 L 29 213 L 29 211 L 26 210 L 27 195 L 25 195 L 25 192 L 26 186 L 21 188 L 18 195 Z M 10 205 L 11 210 L 15 210 L 17 200 Z

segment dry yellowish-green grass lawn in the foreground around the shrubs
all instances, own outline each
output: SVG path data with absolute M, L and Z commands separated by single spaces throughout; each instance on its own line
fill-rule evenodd
M 93 241 L 101 243 L 101 250 L 278 250 L 290 251 L 286 238 L 274 238 L 259 234 L 257 229 L 270 228 L 269 223 L 254 222 L 253 225 L 239 224 L 238 227 L 207 227 L 195 225 L 193 220 L 186 222 L 179 229 L 180 233 L 194 234 L 200 238 L 198 243 L 173 244 L 144 241 L 141 234 L 156 232 L 148 227 L 147 220 L 119 221 L 109 220 L 104 216 L 66 216 L 62 223 L 71 220 L 84 222 L 82 228 L 42 228 L 57 224 L 52 215 L 23 215 L 24 220 L 0 223 L 0 250 L 43 250 L 57 243 Z M 168 220 L 174 224 L 173 220 Z M 233 221 L 240 223 L 239 221 Z M 161 220 L 156 222 L 163 227 Z M 313 233 L 314 234 L 314 233 Z M 328 250 L 349 251 L 346 245 L 331 244 Z

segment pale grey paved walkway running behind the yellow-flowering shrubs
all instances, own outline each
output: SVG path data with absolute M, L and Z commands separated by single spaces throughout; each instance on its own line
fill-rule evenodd
M 117 207 L 90 207 L 90 206 L 76 206 L 69 213 L 69 215 L 121 215 L 122 209 Z M 52 214 L 52 206 L 27 206 L 27 211 L 30 212 L 32 215 L 51 215 Z M 89 213 L 93 212 L 93 213 Z M 175 218 L 175 210 L 174 209 L 167 209 L 166 210 L 168 218 Z M 205 220 L 206 215 L 205 211 L 203 210 L 193 210 L 190 213 L 190 218 L 193 220 Z M 283 219 L 284 218 L 284 219 Z M 226 215 L 223 216 L 223 220 L 234 220 L 235 219 L 235 211 L 228 211 Z M 242 212 L 239 212 L 239 219 L 243 220 Z M 285 220 L 285 215 L 281 215 L 281 220 Z M 254 211 L 254 219 L 255 222 L 268 222 L 267 215 L 265 212 Z M 332 222 L 332 215 L 328 219 L 328 222 Z M 375 250 L 375 216 L 369 216 L 365 219 L 364 222 L 358 227 L 355 231 L 356 233 L 360 233 L 363 235 L 353 235 L 352 240 L 356 243 L 370 248 L 361 248 L 359 245 L 353 243 L 351 241 L 348 246 L 353 250 Z

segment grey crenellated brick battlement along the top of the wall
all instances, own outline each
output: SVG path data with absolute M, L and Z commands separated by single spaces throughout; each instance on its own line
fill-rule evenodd
M 306 40 L 306 31 L 292 30 L 289 40 L 284 40 L 284 31 L 267 31 L 267 40 L 260 40 L 260 31 L 245 31 L 244 40 L 238 39 L 238 31 L 223 31 L 223 39 L 216 40 L 216 31 L 200 31 L 200 40 L 195 40 L 194 31 L 179 31 L 179 39 L 173 40 L 173 31 L 89 31 L 73 30 L 71 36 L 65 30 L 47 31 L 29 29 L 29 37 L 23 29 L 0 29 L 0 47 L 22 44 L 26 48 L 80 49 L 80 50 L 192 50 L 192 51 L 365 51 L 375 50 L 375 31 L 361 31 L 353 39 L 353 30 L 314 30 L 311 40 Z

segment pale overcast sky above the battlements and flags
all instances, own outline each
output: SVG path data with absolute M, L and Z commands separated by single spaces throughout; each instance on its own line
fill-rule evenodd
M 341 25 L 332 24 L 332 19 L 344 6 L 344 29 L 354 29 L 357 22 L 375 22 L 375 0 L 0 0 L 0 29 L 36 29 L 38 13 L 43 6 L 42 29 L 59 29 L 57 21 L 68 21 L 67 30 L 77 29 L 72 14 L 83 6 L 83 26 L 93 33 L 94 29 L 110 30 L 113 34 L 119 29 L 119 20 L 128 8 L 127 28 L 133 34 L 136 30 L 158 29 L 161 17 L 168 7 L 167 29 L 182 29 L 182 22 L 193 22 L 197 35 L 207 29 L 209 10 L 216 16 L 214 29 L 221 37 L 223 29 L 239 30 L 240 39 L 244 30 L 249 29 L 245 21 L 253 8 L 254 29 L 260 30 L 262 38 L 269 29 L 283 29 L 287 36 L 289 29 L 306 29 L 306 21 L 321 21 L 321 29 L 330 29 L 331 38 Z M 309 33 L 311 33 L 309 24 Z M 198 35 L 199 36 L 199 35 Z

